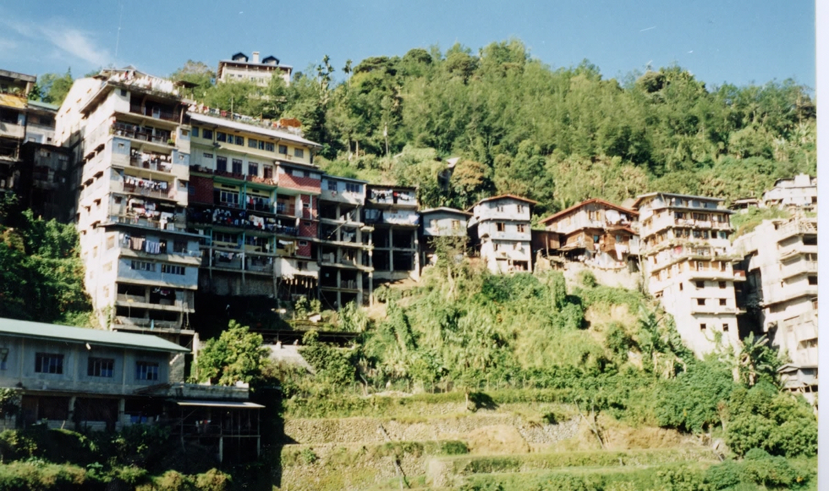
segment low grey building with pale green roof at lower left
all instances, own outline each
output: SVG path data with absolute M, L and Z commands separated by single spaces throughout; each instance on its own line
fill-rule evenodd
M 20 391 L 22 427 L 160 425 L 218 462 L 255 459 L 264 406 L 248 401 L 246 386 L 183 383 L 189 351 L 156 336 L 0 318 L 0 387 Z

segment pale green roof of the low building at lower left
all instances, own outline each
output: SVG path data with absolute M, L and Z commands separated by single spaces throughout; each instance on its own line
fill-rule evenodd
M 104 346 L 143 349 L 164 352 L 189 352 L 176 343 L 170 343 L 149 334 L 119 333 L 103 329 L 73 328 L 57 324 L 36 323 L 14 318 L 0 318 L 0 335 L 22 336 L 70 343 L 90 343 Z

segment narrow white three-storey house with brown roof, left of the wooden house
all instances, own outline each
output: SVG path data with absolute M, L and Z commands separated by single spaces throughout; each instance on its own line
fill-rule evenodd
M 470 208 L 468 221 L 473 246 L 492 273 L 532 270 L 531 207 L 524 197 L 487 197 Z

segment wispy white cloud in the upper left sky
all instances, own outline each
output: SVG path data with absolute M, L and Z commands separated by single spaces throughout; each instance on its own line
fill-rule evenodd
M 104 66 L 112 60 L 109 51 L 96 45 L 90 33 L 69 27 L 65 22 L 54 20 L 50 22 L 18 22 L 4 19 L 5 24 L 12 31 L 34 42 L 48 42 L 63 54 L 68 54 L 86 61 L 90 65 Z M 0 50 L 7 49 L 0 39 Z M 12 42 L 12 41 L 9 41 Z M 17 44 L 12 46 L 17 48 Z M 8 48 L 11 49 L 11 48 Z

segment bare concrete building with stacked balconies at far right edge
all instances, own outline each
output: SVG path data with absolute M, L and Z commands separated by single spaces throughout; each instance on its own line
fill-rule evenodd
M 817 218 L 767 220 L 734 241 L 747 271 L 744 301 L 773 346 L 788 353 L 789 390 L 817 392 Z

